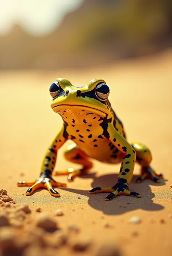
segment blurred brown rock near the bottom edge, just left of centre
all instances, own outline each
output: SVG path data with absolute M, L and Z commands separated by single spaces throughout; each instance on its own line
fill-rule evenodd
M 90 239 L 73 239 L 69 242 L 70 247 L 74 251 L 86 251 L 86 249 L 90 246 L 91 240 Z

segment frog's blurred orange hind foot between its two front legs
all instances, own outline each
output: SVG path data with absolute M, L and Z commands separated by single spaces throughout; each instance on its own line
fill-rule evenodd
M 83 168 L 81 170 L 74 170 L 73 168 L 68 168 L 65 171 L 57 171 L 54 172 L 53 175 L 58 176 L 58 175 L 68 175 L 67 180 L 68 182 L 72 182 L 75 177 L 81 176 L 83 174 L 87 174 L 90 168 Z

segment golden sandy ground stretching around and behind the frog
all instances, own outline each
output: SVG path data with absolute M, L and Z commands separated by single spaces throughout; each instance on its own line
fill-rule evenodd
M 87 191 L 114 185 L 120 165 L 95 162 L 89 175 L 67 183 L 67 188 L 57 188 L 60 198 L 50 196 L 46 190 L 22 195 L 27 188 L 17 187 L 16 183 L 38 178 L 45 150 L 62 125 L 61 117 L 50 108 L 49 85 L 57 77 L 65 77 L 75 85 L 103 78 L 110 86 L 109 98 L 124 123 L 128 141 L 150 147 L 152 167 L 163 172 L 165 180 L 159 184 L 151 180 L 136 184 L 136 166 L 130 190 L 139 192 L 142 198 L 119 196 L 106 202 L 106 194 L 89 195 Z M 171 51 L 90 70 L 1 72 L 0 109 L 0 188 L 8 190 L 17 203 L 29 203 L 33 215 L 39 214 L 35 212 L 38 206 L 49 215 L 61 208 L 64 216 L 56 217 L 59 225 L 65 229 L 75 224 L 81 234 L 93 240 L 90 249 L 78 255 L 95 255 L 106 241 L 119 244 L 126 256 L 172 255 Z M 59 151 L 56 170 L 77 167 L 63 157 L 67 143 Z M 55 179 L 66 182 L 66 178 Z M 133 216 L 138 216 L 142 223 L 128 223 Z M 111 227 L 105 227 L 106 223 Z M 134 236 L 134 232 L 138 235 Z M 74 254 L 65 248 L 60 253 Z

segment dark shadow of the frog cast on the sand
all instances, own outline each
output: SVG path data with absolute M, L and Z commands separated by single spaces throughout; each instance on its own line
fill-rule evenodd
M 142 209 L 146 211 L 159 211 L 164 207 L 160 204 L 154 203 L 151 199 L 155 197 L 149 185 L 163 186 L 165 180 L 161 179 L 160 183 L 155 183 L 151 180 L 144 180 L 142 183 L 136 183 L 138 175 L 133 175 L 132 182 L 130 183 L 130 191 L 139 192 L 142 198 L 135 198 L 132 196 L 117 196 L 111 201 L 105 201 L 105 197 L 110 194 L 99 193 L 99 194 L 88 194 L 88 190 L 79 190 L 73 188 L 62 188 L 63 190 L 70 191 L 76 194 L 84 195 L 89 198 L 88 204 L 96 210 L 102 211 L 107 215 L 118 215 L 128 211 L 136 209 Z M 111 187 L 112 180 L 118 179 L 118 174 L 106 174 L 102 176 L 96 176 L 96 173 L 83 175 L 80 178 L 93 178 L 91 183 L 92 187 Z M 74 182 L 77 182 L 77 179 Z M 115 184 L 115 182 L 114 182 Z

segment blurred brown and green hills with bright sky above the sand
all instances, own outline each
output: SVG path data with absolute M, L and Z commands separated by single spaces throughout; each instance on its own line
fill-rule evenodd
M 86 68 L 172 46 L 172 1 L 0 0 L 0 70 Z

